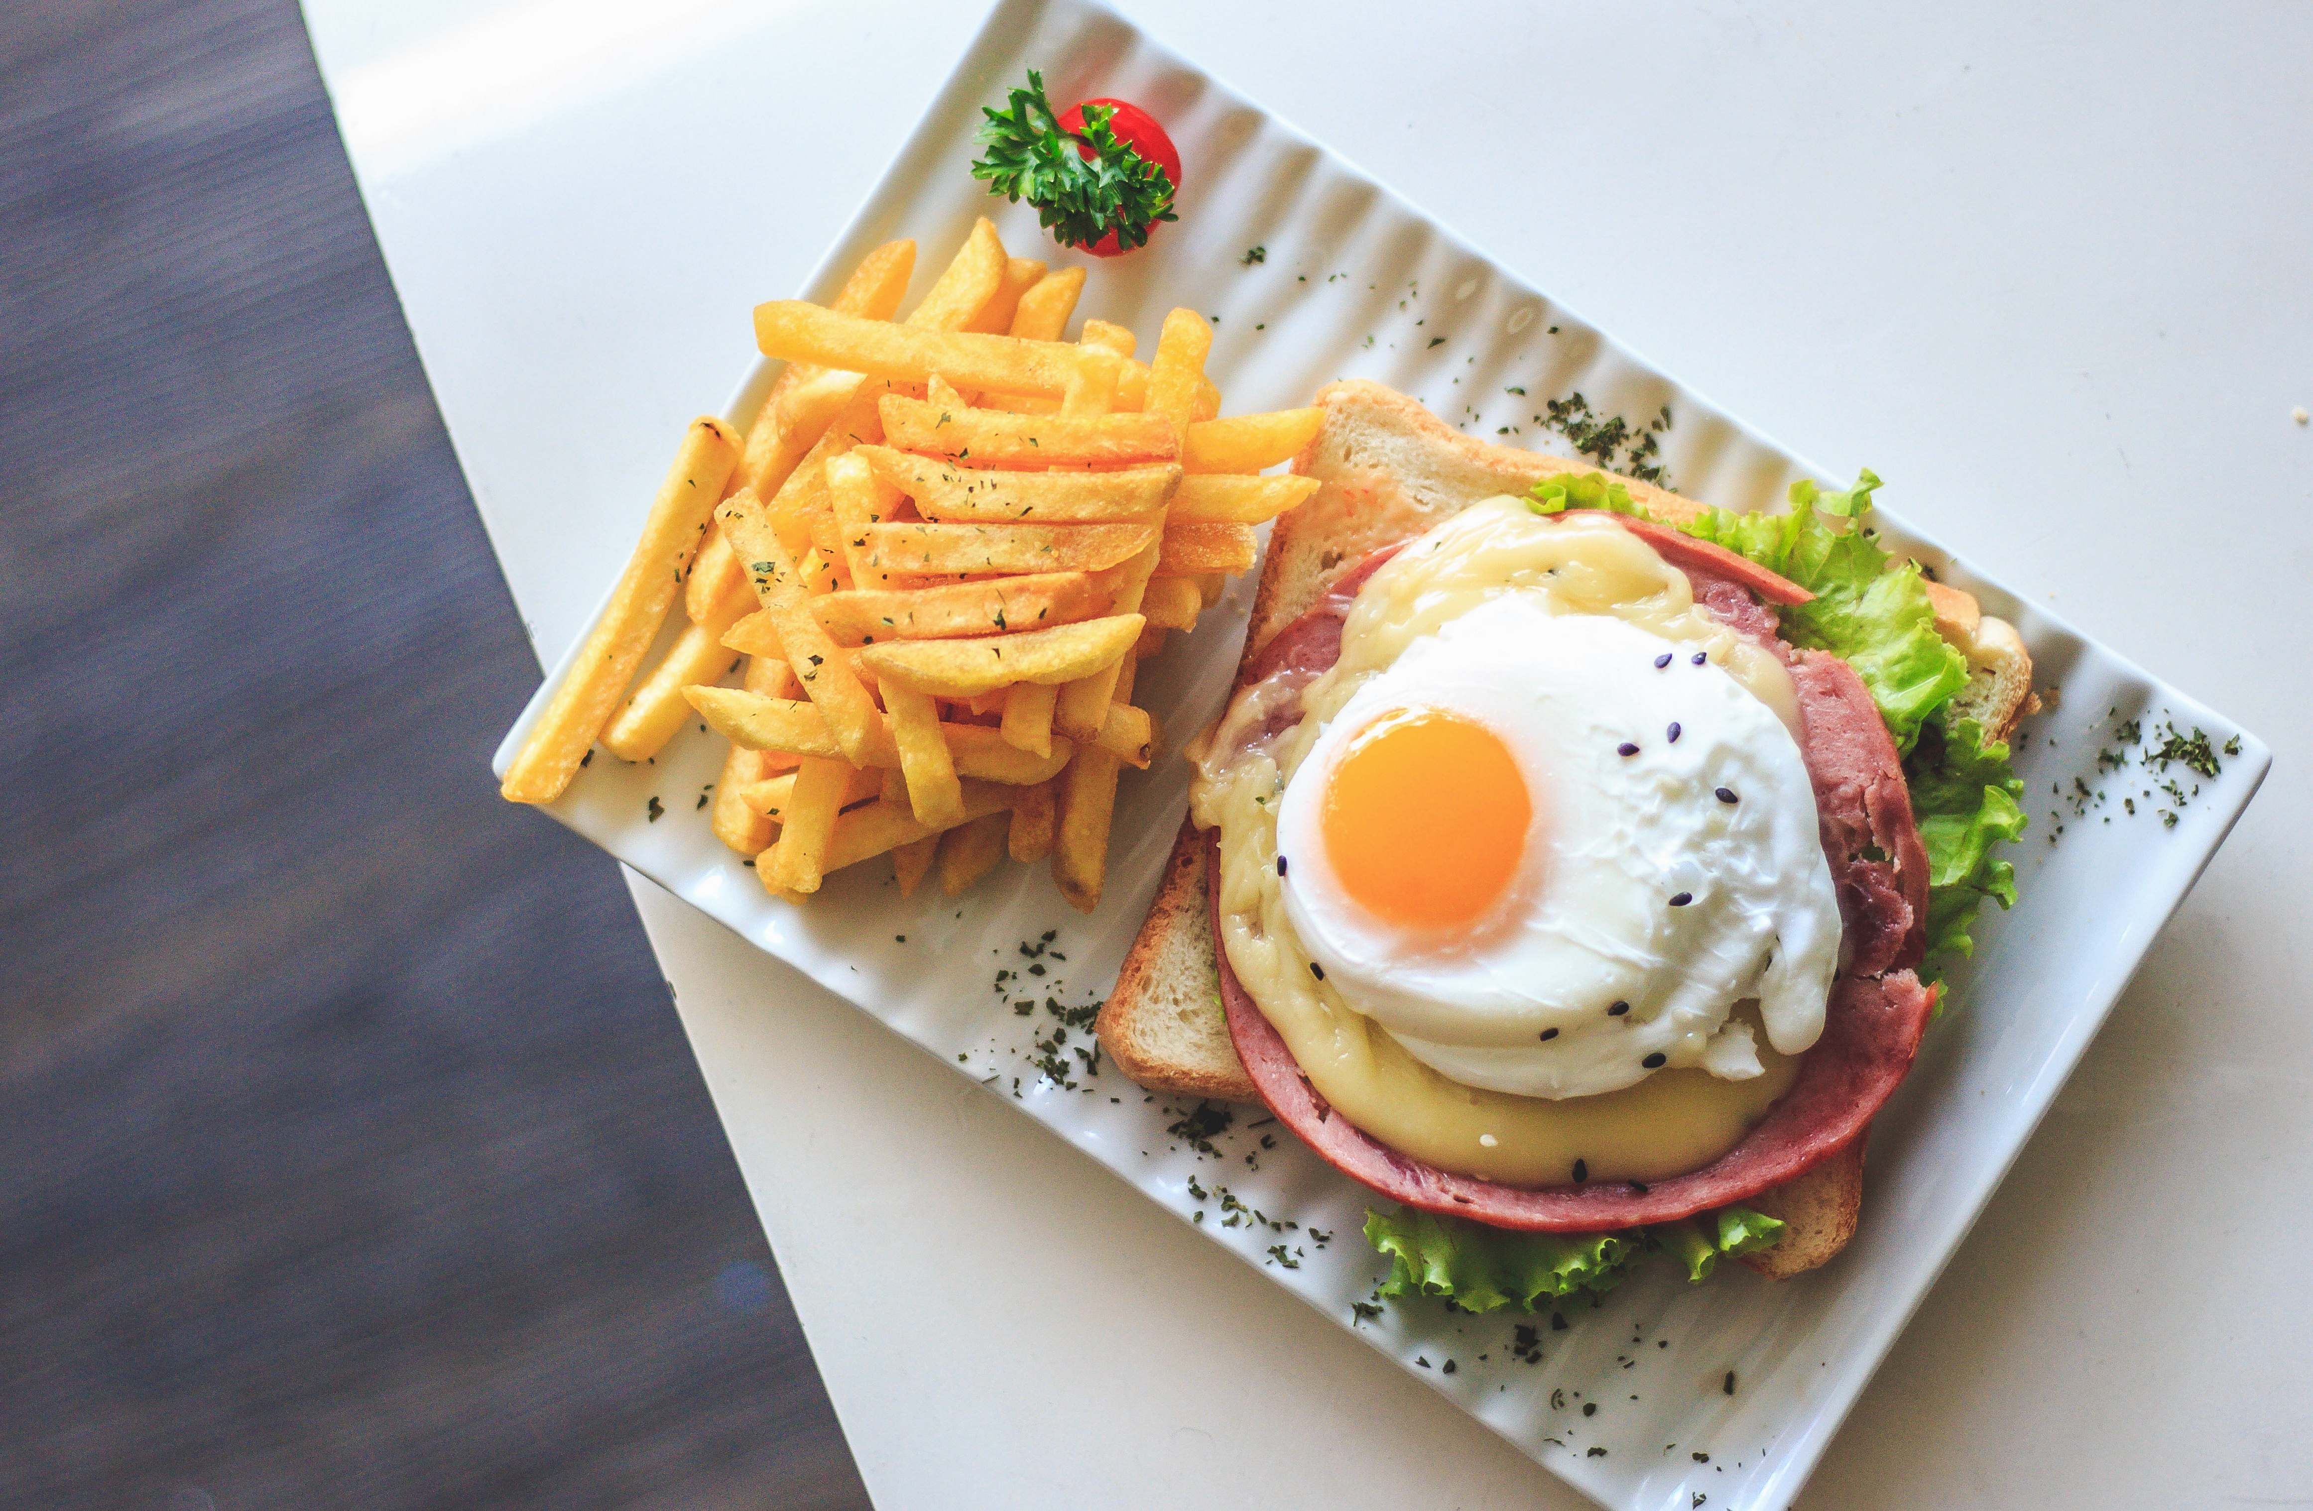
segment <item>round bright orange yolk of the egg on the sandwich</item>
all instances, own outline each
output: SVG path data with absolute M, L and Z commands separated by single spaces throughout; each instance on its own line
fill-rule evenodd
M 1318 826 L 1342 889 L 1406 928 L 1476 923 L 1517 875 L 1534 803 L 1485 724 L 1418 708 L 1376 720 L 1335 764 Z

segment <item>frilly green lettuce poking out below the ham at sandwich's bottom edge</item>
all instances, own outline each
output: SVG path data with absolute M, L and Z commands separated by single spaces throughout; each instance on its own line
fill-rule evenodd
M 1381 1293 L 1439 1296 L 1464 1312 L 1545 1312 L 1566 1296 L 1605 1293 L 1649 1252 L 1700 1282 L 1723 1254 L 1751 1254 L 1781 1236 L 1781 1222 L 1749 1208 L 1624 1233 L 1506 1233 L 1413 1208 L 1365 1213 L 1365 1240 L 1390 1256 Z

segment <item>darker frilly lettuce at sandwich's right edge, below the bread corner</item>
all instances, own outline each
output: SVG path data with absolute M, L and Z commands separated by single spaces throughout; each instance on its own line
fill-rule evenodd
M 1994 845 L 2024 835 L 2024 782 L 2008 764 L 2008 745 L 1987 740 L 1982 724 L 1959 720 L 1922 731 L 1904 761 L 1911 812 L 1927 845 L 1927 953 L 1973 956 L 1975 912 L 1985 898 L 2015 907 L 2015 865 Z

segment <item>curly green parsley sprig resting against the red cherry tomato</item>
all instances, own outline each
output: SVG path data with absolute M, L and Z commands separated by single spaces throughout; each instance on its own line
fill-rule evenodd
M 971 176 L 985 178 L 990 194 L 1036 206 L 1036 220 L 1062 245 L 1089 248 L 1115 231 L 1117 245 L 1131 250 L 1147 243 L 1154 222 L 1177 220 L 1173 180 L 1115 134 L 1113 106 L 1085 106 L 1085 130 L 1064 132 L 1043 97 L 1043 76 L 1029 69 L 1027 88 L 1011 93 L 1011 109 L 981 113 L 988 155 L 971 164 Z M 1092 157 L 1078 146 L 1089 146 Z

